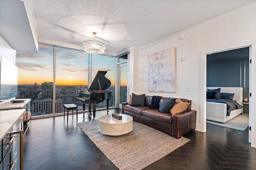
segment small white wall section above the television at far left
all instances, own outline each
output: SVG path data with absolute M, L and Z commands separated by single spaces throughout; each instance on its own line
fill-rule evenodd
M 4 57 L 13 64 L 16 64 L 16 50 L 0 35 L 0 56 Z

